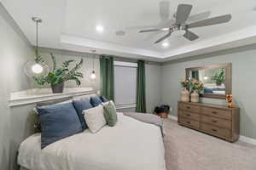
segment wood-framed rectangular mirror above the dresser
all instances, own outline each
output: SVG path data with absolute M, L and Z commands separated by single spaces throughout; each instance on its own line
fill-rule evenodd
M 204 83 L 201 97 L 225 99 L 226 94 L 232 93 L 231 71 L 231 63 L 187 68 L 186 79 L 194 78 Z

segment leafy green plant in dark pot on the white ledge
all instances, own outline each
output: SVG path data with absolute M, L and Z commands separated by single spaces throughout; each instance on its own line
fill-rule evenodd
M 33 79 L 39 84 L 44 85 L 45 83 L 50 84 L 52 92 L 62 93 L 64 88 L 64 82 L 73 80 L 79 86 L 81 84 L 79 78 L 83 78 L 83 73 L 79 72 L 83 59 L 78 64 L 75 64 L 73 68 L 70 68 L 70 64 L 75 62 L 74 60 L 64 61 L 60 68 L 57 68 L 56 59 L 53 54 L 50 54 L 53 61 L 53 70 L 49 71 L 46 76 L 33 77 Z

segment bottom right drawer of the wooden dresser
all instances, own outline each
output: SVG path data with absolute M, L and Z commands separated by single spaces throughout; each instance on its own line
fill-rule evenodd
M 208 125 L 205 123 L 201 123 L 201 130 L 210 133 L 212 135 L 218 136 L 220 138 L 224 139 L 230 139 L 231 136 L 231 131 L 228 129 L 220 128 L 220 127 L 215 127 L 212 125 Z

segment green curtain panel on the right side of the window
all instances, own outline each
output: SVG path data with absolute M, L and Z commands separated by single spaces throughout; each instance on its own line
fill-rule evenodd
M 146 78 L 145 61 L 137 62 L 137 106 L 136 111 L 146 113 Z

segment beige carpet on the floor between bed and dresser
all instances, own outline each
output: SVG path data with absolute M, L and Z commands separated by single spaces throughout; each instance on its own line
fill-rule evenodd
M 166 170 L 256 170 L 256 146 L 230 144 L 164 120 Z

